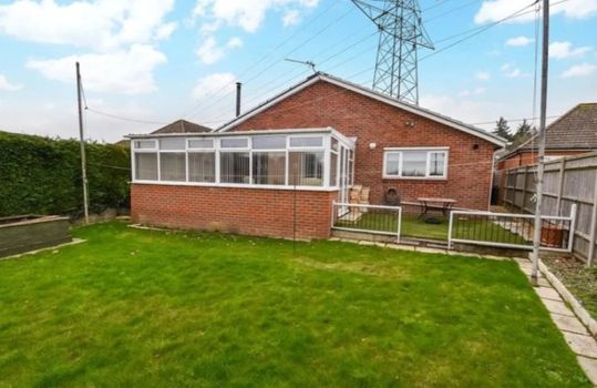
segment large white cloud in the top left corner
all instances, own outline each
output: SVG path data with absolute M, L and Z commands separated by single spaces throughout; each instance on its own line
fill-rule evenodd
M 69 4 L 22 0 L 0 6 L 0 33 L 23 41 L 112 51 L 167 38 L 176 23 L 164 23 L 163 19 L 173 4 L 174 0 L 95 0 Z

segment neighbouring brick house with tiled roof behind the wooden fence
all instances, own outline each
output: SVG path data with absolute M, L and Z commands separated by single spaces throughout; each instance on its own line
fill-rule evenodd
M 497 170 L 524 167 L 537 163 L 536 135 L 507 152 Z M 545 156 L 553 160 L 597 151 L 597 102 L 581 103 L 563 114 L 545 131 Z

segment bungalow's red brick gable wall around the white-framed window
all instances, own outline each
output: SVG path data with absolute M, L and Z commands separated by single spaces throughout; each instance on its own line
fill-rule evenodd
M 413 127 L 405 125 L 409 121 Z M 442 196 L 456 200 L 457 207 L 488 206 L 493 144 L 328 82 L 303 89 L 233 131 L 322 126 L 358 137 L 354 183 L 371 187 L 372 203 L 395 187 L 403 201 Z M 377 147 L 369 150 L 369 143 Z M 449 146 L 447 180 L 383 180 L 383 149 L 398 146 Z

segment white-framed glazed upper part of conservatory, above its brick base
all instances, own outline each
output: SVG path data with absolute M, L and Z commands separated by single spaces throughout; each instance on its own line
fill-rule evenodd
M 133 183 L 297 190 L 352 185 L 354 141 L 333 129 L 128 137 Z

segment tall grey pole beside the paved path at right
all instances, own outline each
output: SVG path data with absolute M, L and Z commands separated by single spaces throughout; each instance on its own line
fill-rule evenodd
M 533 235 L 533 255 L 531 268 L 531 283 L 537 286 L 537 272 L 539 265 L 539 246 L 542 232 L 542 203 L 543 203 L 543 173 L 545 163 L 545 118 L 547 114 L 547 71 L 549 60 L 549 0 L 543 0 L 543 50 L 541 68 L 541 112 L 539 112 L 539 135 L 538 135 L 538 163 L 537 163 L 537 185 L 535 205 L 535 229 Z

